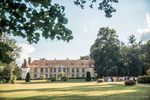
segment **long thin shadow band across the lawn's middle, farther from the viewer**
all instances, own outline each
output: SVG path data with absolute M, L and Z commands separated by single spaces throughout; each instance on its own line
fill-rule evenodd
M 105 87 L 107 86 L 107 87 Z M 134 88 L 134 87 L 133 87 Z M 13 93 L 13 92 L 24 92 L 24 91 L 43 91 L 43 92 L 53 92 L 53 91 L 79 91 L 79 92 L 91 92 L 91 91 L 108 91 L 108 90 L 124 90 L 127 89 L 126 86 L 122 85 L 86 85 L 86 86 L 70 86 L 62 88 L 34 88 L 34 89 L 16 89 L 16 90 L 0 90 L 1 93 Z M 130 88 L 131 89 L 131 88 Z

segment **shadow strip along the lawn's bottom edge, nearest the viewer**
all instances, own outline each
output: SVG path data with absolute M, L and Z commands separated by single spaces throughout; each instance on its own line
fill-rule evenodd
M 130 94 L 130 97 L 128 96 Z M 133 95 L 132 95 L 133 94 Z M 10 98 L 0 98 L 2 100 Z M 86 95 L 67 95 L 67 96 L 31 96 L 24 98 L 11 98 L 11 100 L 150 100 L 147 96 L 135 96 L 134 93 L 122 93 L 114 95 L 86 96 Z

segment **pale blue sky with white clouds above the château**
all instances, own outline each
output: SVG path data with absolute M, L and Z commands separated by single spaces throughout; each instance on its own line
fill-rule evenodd
M 150 39 L 150 0 L 119 0 L 114 4 L 116 12 L 106 18 L 103 11 L 85 7 L 81 9 L 73 4 L 73 0 L 54 0 L 65 6 L 67 27 L 72 30 L 74 39 L 70 42 L 45 40 L 41 38 L 37 44 L 29 44 L 25 39 L 16 37 L 22 47 L 18 63 L 23 59 L 79 59 L 89 55 L 101 27 L 114 28 L 119 40 L 128 43 L 128 37 L 134 34 L 138 40 Z

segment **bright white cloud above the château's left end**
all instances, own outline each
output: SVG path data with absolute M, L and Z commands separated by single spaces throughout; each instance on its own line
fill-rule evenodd
M 19 43 L 18 46 L 21 47 L 21 52 L 19 59 L 17 59 L 17 63 L 21 65 L 23 63 L 23 60 L 30 57 L 30 54 L 35 51 L 35 48 L 25 43 Z

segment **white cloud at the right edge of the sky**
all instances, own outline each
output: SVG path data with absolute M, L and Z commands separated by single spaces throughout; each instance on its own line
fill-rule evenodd
M 137 31 L 137 33 L 140 34 L 141 40 L 143 41 L 150 39 L 150 15 L 148 13 L 146 14 L 146 23 L 147 23 L 147 28 L 139 29 Z

